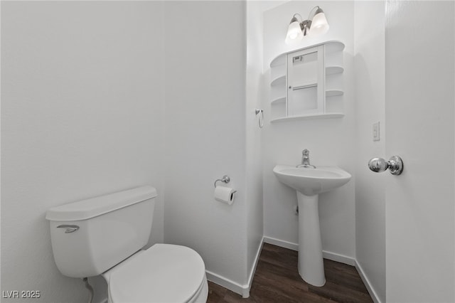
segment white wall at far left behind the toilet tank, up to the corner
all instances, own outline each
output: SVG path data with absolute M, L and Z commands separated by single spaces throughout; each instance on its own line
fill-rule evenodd
M 51 206 L 151 184 L 151 243 L 163 240 L 160 8 L 1 2 L 2 290 L 87 302 L 82 280 L 55 267 Z

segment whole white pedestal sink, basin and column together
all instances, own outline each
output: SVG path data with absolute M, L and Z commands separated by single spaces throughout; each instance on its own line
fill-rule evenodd
M 343 186 L 350 174 L 336 166 L 314 168 L 277 165 L 277 179 L 297 191 L 299 202 L 299 275 L 314 286 L 326 284 L 324 275 L 321 228 L 319 227 L 319 193 Z

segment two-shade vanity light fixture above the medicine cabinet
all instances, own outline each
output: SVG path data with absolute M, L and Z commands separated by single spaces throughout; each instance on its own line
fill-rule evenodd
M 313 17 L 310 18 L 313 12 Z M 299 21 L 296 16 L 300 16 L 302 21 Z M 287 29 L 286 43 L 289 44 L 293 41 L 299 41 L 307 35 L 316 36 L 327 33 L 328 28 L 326 14 L 324 14 L 324 11 L 319 6 L 314 6 L 306 20 L 300 14 L 294 14 L 292 16 L 289 28 Z

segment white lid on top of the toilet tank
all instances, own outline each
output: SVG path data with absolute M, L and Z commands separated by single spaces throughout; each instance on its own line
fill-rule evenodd
M 87 220 L 158 196 L 156 188 L 141 186 L 50 208 L 45 218 L 50 221 Z

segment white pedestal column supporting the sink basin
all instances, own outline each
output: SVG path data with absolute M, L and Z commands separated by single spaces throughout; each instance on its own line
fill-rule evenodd
M 326 284 L 319 227 L 319 195 L 305 196 L 297 191 L 299 201 L 299 275 L 314 286 Z

